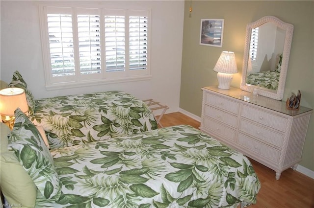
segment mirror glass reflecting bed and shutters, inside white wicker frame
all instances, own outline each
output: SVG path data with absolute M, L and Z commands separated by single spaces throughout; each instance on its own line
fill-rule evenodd
M 246 84 L 277 91 L 285 36 L 274 23 L 252 28 Z

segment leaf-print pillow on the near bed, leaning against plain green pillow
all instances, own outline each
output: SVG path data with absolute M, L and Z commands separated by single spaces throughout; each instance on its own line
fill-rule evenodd
M 15 124 L 9 136 L 18 160 L 46 199 L 60 194 L 59 177 L 52 155 L 34 124 L 18 108 L 15 110 Z

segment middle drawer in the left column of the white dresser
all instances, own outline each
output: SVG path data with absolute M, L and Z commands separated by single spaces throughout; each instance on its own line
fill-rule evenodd
M 212 108 L 208 105 L 205 105 L 204 114 L 205 114 L 205 116 L 209 116 L 214 120 L 223 122 L 223 123 L 227 124 L 228 126 L 232 126 L 232 127 L 236 128 L 236 121 L 237 121 L 236 116 L 232 116 L 226 112 L 217 110 L 217 109 Z

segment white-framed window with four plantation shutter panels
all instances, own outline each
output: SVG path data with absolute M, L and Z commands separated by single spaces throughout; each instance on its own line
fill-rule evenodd
M 40 8 L 48 89 L 150 78 L 149 11 Z

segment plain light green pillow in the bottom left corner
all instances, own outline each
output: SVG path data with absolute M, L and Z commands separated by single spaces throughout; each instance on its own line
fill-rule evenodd
M 10 132 L 9 127 L 4 123 L 0 123 L 0 125 L 1 191 L 9 204 L 22 205 L 23 208 L 33 208 L 35 207 L 37 187 L 16 158 L 14 152 L 8 150 L 7 135 Z

